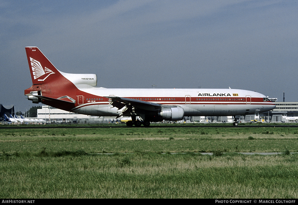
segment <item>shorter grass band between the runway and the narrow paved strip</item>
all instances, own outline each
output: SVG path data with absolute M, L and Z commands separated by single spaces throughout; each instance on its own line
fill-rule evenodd
M 290 152 L 298 151 L 297 128 L 59 128 L 2 129 L 7 153 L 84 150 L 88 153 Z

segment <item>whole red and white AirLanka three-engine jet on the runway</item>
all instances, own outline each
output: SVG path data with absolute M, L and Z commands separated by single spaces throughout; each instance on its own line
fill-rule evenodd
M 38 47 L 25 49 L 32 79 L 32 86 L 24 91 L 28 100 L 78 114 L 131 117 L 126 122 L 129 127 L 184 116 L 235 116 L 233 125 L 238 125 L 237 116 L 275 108 L 265 95 L 240 89 L 96 87 L 96 74 L 61 72 Z

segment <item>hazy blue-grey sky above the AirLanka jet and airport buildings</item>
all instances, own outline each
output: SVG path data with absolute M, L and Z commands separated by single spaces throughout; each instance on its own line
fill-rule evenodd
M 26 111 L 26 46 L 105 88 L 235 88 L 298 101 L 298 1 L 0 0 L 0 104 Z M 39 103 L 39 105 L 42 105 Z

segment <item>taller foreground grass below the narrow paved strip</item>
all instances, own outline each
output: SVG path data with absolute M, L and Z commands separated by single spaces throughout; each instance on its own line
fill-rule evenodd
M 1 198 L 297 198 L 297 155 L 1 157 Z

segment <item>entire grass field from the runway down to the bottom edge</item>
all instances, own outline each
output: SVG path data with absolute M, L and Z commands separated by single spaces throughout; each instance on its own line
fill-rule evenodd
M 1 198 L 298 197 L 297 128 L 1 129 L 0 151 Z

